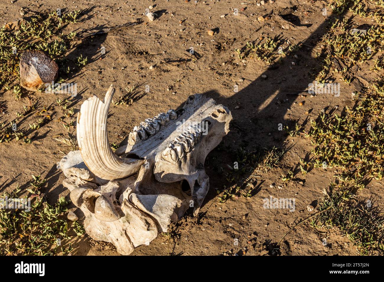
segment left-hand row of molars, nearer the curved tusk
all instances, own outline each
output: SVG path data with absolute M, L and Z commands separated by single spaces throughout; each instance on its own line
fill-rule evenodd
M 134 145 L 142 140 L 147 140 L 148 137 L 154 135 L 160 130 L 162 125 L 165 125 L 171 119 L 177 119 L 177 113 L 172 109 L 166 113 L 156 115 L 153 119 L 146 119 L 144 122 L 140 122 L 140 125 L 135 126 L 129 133 L 128 143 Z

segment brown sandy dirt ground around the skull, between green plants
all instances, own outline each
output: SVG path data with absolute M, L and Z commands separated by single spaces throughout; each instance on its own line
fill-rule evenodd
M 134 85 L 141 85 L 135 101 L 130 106 L 111 105 L 108 119 L 110 142 L 119 143 L 141 120 L 170 108 L 177 108 L 187 97 L 204 93 L 218 103 L 227 106 L 233 115 L 230 133 L 218 149 L 212 151 L 206 162 L 210 177 L 210 191 L 198 217 L 187 214 L 179 223 L 172 224 L 172 237 L 159 234 L 149 246 L 140 246 L 132 255 L 270 255 L 270 246 L 280 241 L 290 225 L 311 213 L 307 206 L 320 200 L 323 189 L 333 179 L 334 170 L 313 170 L 305 177 L 297 173 L 299 159 L 309 159 L 310 139 L 303 135 L 290 137 L 278 130 L 278 124 L 294 127 L 295 122 L 310 127 L 309 120 L 315 119 L 325 107 L 352 106 L 352 90 L 341 84 L 341 95 L 334 97 L 308 94 L 308 83 L 312 82 L 319 61 L 314 54 L 324 46 L 318 45 L 326 32 L 328 16 L 322 9 L 327 1 L 309 0 L 162 0 L 162 1 L 23 1 L 11 3 L 0 0 L 0 22 L 7 23 L 19 18 L 21 7 L 34 11 L 56 10 L 58 8 L 83 10 L 80 22 L 70 25 L 68 32 L 98 30 L 129 21 L 141 19 L 139 25 L 111 31 L 84 40 L 67 54 L 74 58 L 82 54 L 88 57 L 88 64 L 67 82 L 77 83 L 78 96 L 71 107 L 75 115 L 82 101 L 95 94 L 103 97 L 110 84 L 116 87 L 115 96 L 126 93 Z M 149 21 L 143 15 L 145 9 L 153 6 L 158 17 Z M 258 20 L 270 12 L 294 7 L 294 18 L 290 19 L 301 30 L 284 30 L 276 22 Z M 238 15 L 234 15 L 238 9 Z M 363 22 L 362 22 L 363 23 Z M 215 30 L 214 36 L 207 31 Z M 271 65 L 255 59 L 241 60 L 235 48 L 242 48 L 247 41 L 258 42 L 260 38 L 276 38 L 283 48 L 289 43 L 303 42 L 302 47 L 281 56 Z M 105 48 L 105 54 L 101 49 Z M 189 52 L 193 47 L 200 55 L 196 59 Z M 295 56 L 294 56 L 295 55 Z M 293 64 L 294 63 L 294 64 Z M 267 77 L 263 78 L 265 74 Z M 366 74 L 369 76 L 369 73 Z M 145 92 L 145 85 L 150 91 Z M 234 86 L 238 91 L 234 92 Z M 28 101 L 24 97 L 15 101 L 10 91 L 2 91 L 0 101 L 6 101 L 7 109 L 1 120 L 16 117 Z M 63 111 L 56 105 L 56 98 L 64 94 L 35 93 L 39 105 L 52 104 L 51 114 L 58 119 Z M 28 117 L 22 126 L 28 127 L 34 117 Z M 70 122 L 71 118 L 65 118 Z M 74 122 L 76 122 L 74 118 Z M 48 178 L 45 193 L 50 202 L 59 196 L 67 196 L 63 187 L 64 175 L 56 169 L 56 162 L 67 153 L 53 137 L 58 134 L 74 135 L 60 122 L 51 120 L 48 124 L 30 134 L 31 144 L 10 142 L 0 144 L 0 183 L 3 190 L 12 190 L 16 185 L 25 185 L 31 174 L 41 173 Z M 255 186 L 257 193 L 250 198 L 238 197 L 219 203 L 216 189 L 222 190 L 225 183 L 227 164 L 233 165 L 236 150 L 260 148 L 289 148 L 278 168 L 267 173 L 259 172 Z M 295 170 L 292 181 L 284 184 L 281 174 Z M 223 171 L 223 172 L 222 172 Z M 298 170 L 300 172 L 300 169 Z M 278 186 L 281 185 L 281 189 Z M 273 188 L 271 188 L 273 187 Z M 372 181 L 365 196 L 374 196 L 382 204 L 382 184 Z M 295 198 L 295 211 L 288 209 L 264 209 L 263 199 Z M 83 214 L 71 205 L 71 210 Z M 326 237 L 328 244 L 323 246 Z M 114 246 L 96 242 L 86 234 L 76 238 L 72 255 L 117 255 Z M 336 230 L 317 230 L 309 222 L 303 223 L 288 233 L 281 243 L 282 255 L 355 255 L 356 247 Z

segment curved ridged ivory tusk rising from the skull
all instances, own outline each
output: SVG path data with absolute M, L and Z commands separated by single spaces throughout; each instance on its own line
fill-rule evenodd
M 130 176 L 139 171 L 144 160 L 119 158 L 109 147 L 107 118 L 115 89 L 111 85 L 101 101 L 92 96 L 81 105 L 77 116 L 77 142 L 81 157 L 94 175 L 106 180 Z

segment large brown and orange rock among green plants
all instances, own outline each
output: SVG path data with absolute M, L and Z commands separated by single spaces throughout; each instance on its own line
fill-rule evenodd
M 20 58 L 20 85 L 38 91 L 57 78 L 58 66 L 43 51 L 26 50 Z

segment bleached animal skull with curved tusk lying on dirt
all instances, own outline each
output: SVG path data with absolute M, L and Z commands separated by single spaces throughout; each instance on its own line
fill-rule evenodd
M 167 232 L 188 208 L 199 213 L 209 190 L 205 158 L 228 133 L 232 115 L 213 99 L 192 95 L 182 108 L 134 127 L 114 153 L 107 136 L 113 94 L 111 86 L 103 101 L 84 101 L 77 119 L 79 150 L 58 166 L 72 202 L 86 216 L 89 236 L 127 255 Z

